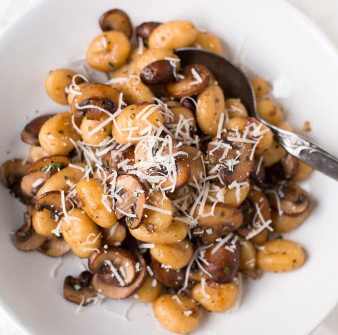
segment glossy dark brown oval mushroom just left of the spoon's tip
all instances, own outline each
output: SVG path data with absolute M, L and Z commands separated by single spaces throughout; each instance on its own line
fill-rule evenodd
M 163 84 L 173 77 L 173 67 L 169 61 L 161 60 L 150 63 L 140 73 L 141 80 L 147 85 Z

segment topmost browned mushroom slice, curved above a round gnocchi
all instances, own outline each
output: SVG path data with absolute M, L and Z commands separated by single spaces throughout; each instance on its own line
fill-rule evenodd
M 124 33 L 128 38 L 131 37 L 133 27 L 126 12 L 121 9 L 110 9 L 103 13 L 99 19 L 102 31 L 116 30 Z

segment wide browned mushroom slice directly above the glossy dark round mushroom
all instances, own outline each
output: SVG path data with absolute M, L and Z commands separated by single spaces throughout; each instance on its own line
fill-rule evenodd
M 200 205 L 197 205 L 193 217 L 197 218 L 198 226 L 203 229 L 199 236 L 205 244 L 215 242 L 217 238 L 238 229 L 243 223 L 241 211 L 224 203 L 217 203 L 213 209 L 213 203 L 206 202 L 202 213 L 199 210 Z M 211 216 L 200 216 L 212 211 L 214 214 Z

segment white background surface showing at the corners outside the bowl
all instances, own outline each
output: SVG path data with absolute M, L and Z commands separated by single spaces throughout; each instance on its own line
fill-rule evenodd
M 0 29 L 35 0 L 0 0 Z M 288 0 L 305 12 L 338 47 L 338 0 Z M 258 8 L 257 8 L 258 9 Z M 1 335 L 21 335 L 16 327 L 0 314 Z M 313 335 L 338 334 L 338 307 Z

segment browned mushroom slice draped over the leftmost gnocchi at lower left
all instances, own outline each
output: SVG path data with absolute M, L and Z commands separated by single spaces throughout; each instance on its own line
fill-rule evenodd
M 66 211 L 72 209 L 72 203 L 65 199 Z M 48 209 L 56 215 L 60 215 L 63 212 L 62 209 L 62 196 L 61 191 L 50 191 L 41 194 L 35 202 L 35 208 L 37 211 Z

